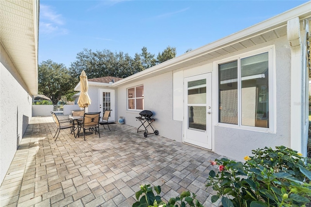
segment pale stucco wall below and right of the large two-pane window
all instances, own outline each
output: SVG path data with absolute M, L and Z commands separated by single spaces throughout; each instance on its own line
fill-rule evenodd
M 291 75 L 291 52 L 286 36 L 275 41 L 267 42 L 259 47 L 275 45 L 275 77 L 276 86 L 276 132 L 256 132 L 236 128 L 222 127 L 215 124 L 214 128 L 214 152 L 225 155 L 236 160 L 243 159 L 241 155 L 252 155 L 251 150 L 263 148 L 265 146 L 287 146 L 291 147 L 290 142 L 290 75 Z M 250 50 L 258 47 L 250 48 Z M 246 52 L 246 51 L 242 51 Z M 232 150 L 234 149 L 234 150 Z

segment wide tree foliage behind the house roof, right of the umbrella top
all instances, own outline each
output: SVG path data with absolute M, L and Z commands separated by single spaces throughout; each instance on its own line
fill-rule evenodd
M 141 53 L 136 53 L 134 58 L 123 52 L 111 52 L 109 50 L 93 52 L 84 49 L 77 53 L 76 61 L 71 63 L 69 71 L 72 78 L 76 80 L 79 80 L 82 70 L 86 72 L 88 79 L 105 76 L 126 78 L 175 56 L 176 48 L 170 46 L 163 52 L 159 52 L 157 59 L 155 54 L 147 51 L 146 47 L 141 49 Z

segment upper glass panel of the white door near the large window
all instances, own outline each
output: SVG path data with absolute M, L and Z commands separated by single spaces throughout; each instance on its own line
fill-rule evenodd
M 206 79 L 188 82 L 188 104 L 206 104 Z

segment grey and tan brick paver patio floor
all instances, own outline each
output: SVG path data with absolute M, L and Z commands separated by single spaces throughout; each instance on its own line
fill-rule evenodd
M 100 129 L 101 138 L 61 130 L 54 141 L 52 116 L 33 117 L 0 187 L 0 206 L 131 207 L 139 186 L 152 184 L 165 200 L 189 190 L 214 207 L 205 183 L 214 169 L 208 160 L 219 155 L 161 132 L 144 138 L 128 125 Z

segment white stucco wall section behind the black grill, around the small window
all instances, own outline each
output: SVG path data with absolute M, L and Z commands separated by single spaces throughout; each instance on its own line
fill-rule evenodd
M 176 141 L 182 141 L 182 122 L 173 121 L 173 74 L 168 72 L 135 84 L 128 84 L 118 88 L 118 117 L 123 117 L 127 125 L 139 127 L 136 121 L 140 111 L 127 110 L 127 88 L 144 86 L 144 109 L 154 113 L 155 122 L 152 126 L 159 131 L 159 135 Z M 143 128 L 144 129 L 144 128 Z M 152 130 L 152 129 L 151 129 Z M 141 133 L 142 138 L 143 134 Z M 151 135 L 148 135 L 148 137 Z

